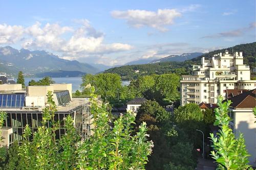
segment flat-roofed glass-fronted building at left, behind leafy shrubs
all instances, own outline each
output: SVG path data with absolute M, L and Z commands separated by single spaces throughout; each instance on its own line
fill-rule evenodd
M 90 110 L 86 99 L 72 98 L 72 84 L 51 84 L 49 86 L 27 86 L 22 89 L 21 84 L 0 85 L 0 111 L 7 112 L 7 119 L 2 129 L 4 143 L 7 145 L 13 141 L 22 140 L 25 126 L 28 124 L 32 132 L 42 122 L 42 109 L 47 105 L 47 92 L 53 92 L 53 99 L 57 105 L 54 119 L 60 121 L 56 138 L 65 134 L 63 128 L 65 117 L 71 115 L 74 118 L 74 127 L 77 132 L 86 137 L 90 135 Z M 51 126 L 48 124 L 48 126 Z

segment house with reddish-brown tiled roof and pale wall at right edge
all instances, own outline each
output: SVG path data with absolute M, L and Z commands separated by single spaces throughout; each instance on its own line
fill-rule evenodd
M 232 102 L 230 105 L 229 116 L 233 119 L 230 122 L 230 128 L 236 137 L 243 133 L 246 149 L 248 150 L 250 164 L 256 166 L 256 119 L 252 109 L 256 107 L 256 89 L 242 92 L 229 98 Z M 223 102 L 226 102 L 224 100 Z

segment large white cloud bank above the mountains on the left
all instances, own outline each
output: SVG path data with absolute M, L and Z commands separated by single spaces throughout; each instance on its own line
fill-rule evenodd
M 0 44 L 21 44 L 30 50 L 46 50 L 70 60 L 100 57 L 132 49 L 126 43 L 104 43 L 104 34 L 91 26 L 87 19 L 75 20 L 78 28 L 63 27 L 59 23 L 36 22 L 29 27 L 0 25 Z M 5 54 L 8 52 L 4 52 Z M 113 60 L 108 58 L 105 61 Z

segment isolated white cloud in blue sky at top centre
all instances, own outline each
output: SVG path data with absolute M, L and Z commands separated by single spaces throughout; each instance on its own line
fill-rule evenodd
M 157 12 L 146 10 L 112 11 L 114 18 L 125 19 L 135 28 L 152 27 L 159 31 L 168 31 L 165 26 L 172 25 L 174 19 L 181 16 L 176 9 L 158 9 Z

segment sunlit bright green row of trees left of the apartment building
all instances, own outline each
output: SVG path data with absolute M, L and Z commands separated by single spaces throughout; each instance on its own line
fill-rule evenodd
M 164 106 L 179 99 L 179 80 L 180 77 L 176 74 L 151 75 L 139 77 L 129 86 L 122 86 L 119 75 L 107 73 L 83 76 L 82 86 L 92 84 L 95 86 L 95 93 L 101 95 L 102 99 L 110 101 L 111 104 L 115 103 L 115 107 L 135 97 L 155 100 Z M 86 89 L 81 93 L 77 91 L 75 95 L 87 93 Z

